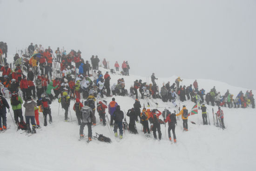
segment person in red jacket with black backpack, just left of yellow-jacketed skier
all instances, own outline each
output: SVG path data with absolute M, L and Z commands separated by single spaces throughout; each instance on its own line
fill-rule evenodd
M 175 134 L 175 124 L 177 124 L 176 115 L 175 113 L 171 113 L 168 110 L 167 110 L 167 114 L 168 115 L 166 119 L 163 119 L 163 120 L 165 123 L 168 122 L 168 137 L 169 137 L 169 140 L 172 141 L 172 138 L 171 138 L 171 130 L 172 130 L 174 142 L 176 143 L 176 134 Z

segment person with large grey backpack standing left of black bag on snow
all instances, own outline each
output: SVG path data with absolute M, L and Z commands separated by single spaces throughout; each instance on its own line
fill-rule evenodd
M 92 116 L 93 112 L 92 109 L 88 106 L 87 103 L 81 108 L 81 120 L 82 123 L 80 125 L 80 139 L 84 138 L 84 126 L 87 125 L 88 127 L 88 142 L 92 140 Z

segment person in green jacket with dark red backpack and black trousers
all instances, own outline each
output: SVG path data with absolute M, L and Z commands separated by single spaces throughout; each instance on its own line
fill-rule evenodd
M 11 105 L 13 108 L 14 120 L 16 124 L 19 123 L 19 118 L 20 118 L 20 123 L 24 122 L 24 119 L 22 116 L 22 108 L 21 108 L 22 104 L 23 104 L 23 101 L 21 97 L 18 96 L 18 92 L 13 92 L 11 97 Z

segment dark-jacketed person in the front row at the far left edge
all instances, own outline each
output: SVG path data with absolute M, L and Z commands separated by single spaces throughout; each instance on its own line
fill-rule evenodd
M 10 112 L 10 106 L 9 106 L 7 100 L 3 97 L 3 94 L 0 92 L 0 131 L 2 131 L 3 129 L 4 130 L 7 129 L 6 108 Z M 2 125 L 2 123 L 3 123 L 3 125 Z

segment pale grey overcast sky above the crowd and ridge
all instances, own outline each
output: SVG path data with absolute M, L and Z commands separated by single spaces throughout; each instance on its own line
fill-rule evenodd
M 33 42 L 132 74 L 256 89 L 256 0 L 0 0 L 8 57 Z

